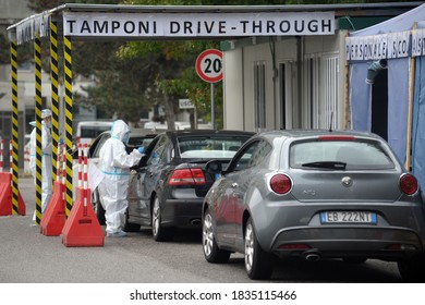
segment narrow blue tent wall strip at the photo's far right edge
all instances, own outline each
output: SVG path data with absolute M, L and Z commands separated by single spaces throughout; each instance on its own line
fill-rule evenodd
M 425 190 L 425 58 L 416 58 L 412 124 L 412 172 Z

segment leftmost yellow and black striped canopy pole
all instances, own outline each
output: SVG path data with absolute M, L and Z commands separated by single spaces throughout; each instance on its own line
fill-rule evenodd
M 13 162 L 10 164 L 12 169 L 12 213 L 19 213 L 19 190 L 17 190 L 17 45 L 11 42 L 11 69 L 12 69 L 12 159 Z

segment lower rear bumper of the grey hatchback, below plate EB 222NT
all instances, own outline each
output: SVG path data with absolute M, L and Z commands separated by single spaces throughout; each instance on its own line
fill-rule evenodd
M 423 253 L 416 232 L 402 228 L 301 227 L 280 231 L 271 252 L 280 257 L 317 254 L 319 257 L 398 259 Z

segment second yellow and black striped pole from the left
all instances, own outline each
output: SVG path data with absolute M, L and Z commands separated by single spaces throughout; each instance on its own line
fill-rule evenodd
M 36 112 L 36 223 L 41 221 L 41 40 L 34 39 Z

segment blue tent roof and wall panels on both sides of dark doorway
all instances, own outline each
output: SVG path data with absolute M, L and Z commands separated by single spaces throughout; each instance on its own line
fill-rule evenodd
M 367 28 L 352 32 L 350 36 L 374 36 L 425 26 L 425 4 Z M 421 59 L 422 61 L 422 59 Z M 350 107 L 352 129 L 371 131 L 371 88 L 365 84 L 367 68 L 372 62 L 350 62 Z M 408 109 L 409 109 L 409 68 L 410 58 L 388 59 L 388 144 L 401 162 L 405 161 Z M 418 81 L 420 82 L 420 81 Z M 416 82 L 416 86 L 417 86 Z M 422 85 L 422 84 L 421 84 Z M 423 114 L 418 118 L 425 120 Z M 422 126 L 424 127 L 424 126 Z M 418 135 L 420 136 L 420 135 Z M 416 150 L 417 151 L 417 150 Z M 423 158 L 421 155 L 418 158 Z M 417 160 L 416 160 L 417 163 Z

